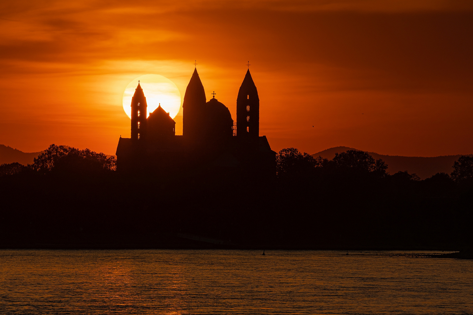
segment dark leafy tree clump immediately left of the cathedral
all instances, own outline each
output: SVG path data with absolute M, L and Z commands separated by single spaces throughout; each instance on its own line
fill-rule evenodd
M 64 145 L 50 145 L 44 153 L 34 159 L 33 170 L 41 173 L 96 173 L 116 170 L 114 157 L 96 153 L 89 149 L 79 150 Z

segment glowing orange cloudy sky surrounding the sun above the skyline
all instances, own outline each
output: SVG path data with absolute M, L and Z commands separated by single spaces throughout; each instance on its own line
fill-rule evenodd
M 3 1 L 0 144 L 114 154 L 126 85 L 194 60 L 236 119 L 250 60 L 275 151 L 473 153 L 472 56 L 472 1 Z

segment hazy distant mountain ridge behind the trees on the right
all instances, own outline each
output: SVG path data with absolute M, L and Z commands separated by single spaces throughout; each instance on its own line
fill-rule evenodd
M 358 150 L 347 146 L 336 146 L 324 151 L 311 154 L 313 157 L 322 156 L 324 159 L 333 159 L 335 153 L 345 152 L 347 150 Z M 422 156 L 401 156 L 401 155 L 385 155 L 375 152 L 368 152 L 373 158 L 382 159 L 388 165 L 388 172 L 394 174 L 398 171 L 407 170 L 409 173 L 416 173 L 420 179 L 429 178 L 438 172 L 450 174 L 453 169 L 453 163 L 462 155 L 473 154 L 457 154 L 457 155 L 441 155 L 435 157 Z

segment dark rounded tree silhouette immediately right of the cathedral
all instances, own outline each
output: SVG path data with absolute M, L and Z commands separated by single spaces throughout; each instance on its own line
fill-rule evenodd
M 316 166 L 315 159 L 308 153 L 299 152 L 296 148 L 286 148 L 276 154 L 278 176 L 307 175 Z

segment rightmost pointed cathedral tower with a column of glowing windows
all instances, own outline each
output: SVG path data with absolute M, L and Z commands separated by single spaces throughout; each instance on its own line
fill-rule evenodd
M 250 140 L 259 135 L 260 99 L 248 69 L 236 98 L 236 136 Z

